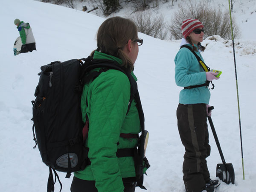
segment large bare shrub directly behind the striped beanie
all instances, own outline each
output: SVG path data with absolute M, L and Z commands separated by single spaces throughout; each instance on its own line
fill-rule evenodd
M 172 39 L 183 38 L 181 32 L 181 24 L 183 20 L 188 18 L 195 18 L 201 21 L 204 25 L 204 37 L 207 38 L 212 35 L 220 35 L 221 38 L 231 39 L 231 24 L 228 11 L 221 11 L 201 1 L 195 3 L 189 0 L 182 6 L 179 5 L 179 10 L 175 12 L 172 22 L 169 25 Z M 239 38 L 241 33 L 239 27 L 236 25 L 235 19 L 232 18 L 233 36 Z

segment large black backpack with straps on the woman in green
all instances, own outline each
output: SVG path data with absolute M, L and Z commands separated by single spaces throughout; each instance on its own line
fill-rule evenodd
M 89 73 L 94 68 L 101 68 L 101 70 Z M 93 60 L 89 56 L 86 59 L 55 61 L 42 66 L 41 72 L 38 73 L 39 83 L 35 89 L 36 99 L 32 101 L 32 121 L 34 122 L 35 143 L 38 145 L 43 162 L 49 167 L 47 192 L 54 191 L 56 177 L 62 189 L 56 171 L 66 172 L 66 178 L 70 178 L 72 172 L 83 170 L 90 164 L 87 158 L 88 148 L 84 147 L 86 139 L 84 133 L 87 132 L 88 123 L 82 121 L 81 93 L 84 84 L 93 81 L 100 73 L 108 69 L 120 70 L 128 76 L 131 84 L 128 111 L 131 101 L 136 99 L 142 127 L 140 138 L 144 138 L 144 114 L 137 83 L 131 73 L 119 64 L 110 60 Z M 144 140 L 140 139 L 139 143 L 138 149 L 117 151 L 117 157 L 134 156 L 137 186 L 145 188 L 143 186 L 143 159 L 147 167 L 150 165 L 144 158 Z M 55 181 L 53 181 L 52 171 L 55 174 Z

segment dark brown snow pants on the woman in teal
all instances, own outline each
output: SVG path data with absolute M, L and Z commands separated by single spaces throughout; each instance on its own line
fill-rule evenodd
M 185 147 L 183 181 L 186 192 L 201 192 L 209 181 L 206 157 L 210 155 L 206 104 L 179 104 L 177 121 Z

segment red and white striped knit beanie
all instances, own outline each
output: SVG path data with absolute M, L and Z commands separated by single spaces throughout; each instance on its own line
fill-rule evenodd
M 185 19 L 181 25 L 182 35 L 186 38 L 192 31 L 197 28 L 204 27 L 197 19 Z

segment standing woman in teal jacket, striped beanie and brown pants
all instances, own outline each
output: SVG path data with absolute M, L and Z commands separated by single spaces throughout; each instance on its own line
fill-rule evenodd
M 184 38 L 181 45 L 189 46 L 202 61 L 201 46 L 204 26 L 196 19 L 186 19 L 182 23 Z M 190 49 L 181 48 L 175 56 L 175 82 L 184 87 L 180 91 L 177 107 L 177 125 L 180 139 L 185 147 L 183 181 L 186 192 L 214 192 L 218 180 L 211 180 L 206 157 L 210 155 L 207 129 L 210 92 L 206 81 L 219 79 L 218 73 L 205 72 Z M 193 86 L 192 88 L 188 88 Z

